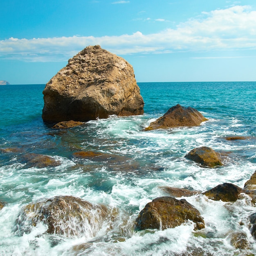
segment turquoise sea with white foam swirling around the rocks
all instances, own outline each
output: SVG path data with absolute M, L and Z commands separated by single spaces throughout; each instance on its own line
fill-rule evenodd
M 256 255 L 248 195 L 236 202 L 214 201 L 201 193 L 186 197 L 204 218 L 165 230 L 136 231 L 134 222 L 148 202 L 169 196 L 164 188 L 207 191 L 225 182 L 241 188 L 256 171 L 256 82 L 138 83 L 144 114 L 112 115 L 69 129 L 44 124 L 44 84 L 0 86 L 0 255 L 40 256 L 233 256 Z M 200 126 L 145 131 L 150 122 L 180 104 L 208 119 Z M 229 136 L 247 139 L 229 141 Z M 184 156 L 207 146 L 225 155 L 224 165 L 203 168 Z M 111 155 L 75 157 L 78 151 Z M 25 155 L 54 157 L 58 166 L 29 165 Z M 22 207 L 56 195 L 72 195 L 116 209 L 96 234 L 48 234 L 45 224 L 15 232 Z M 183 198 L 183 197 L 182 197 Z M 181 199 L 181 198 L 177 198 Z M 72 220 L 70 220 L 72 221 Z M 246 234 L 236 248 L 233 232 Z

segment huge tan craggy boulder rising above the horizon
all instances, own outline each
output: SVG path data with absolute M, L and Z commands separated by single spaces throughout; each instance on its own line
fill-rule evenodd
M 45 86 L 43 121 L 88 121 L 141 115 L 144 101 L 132 66 L 99 45 L 68 61 Z

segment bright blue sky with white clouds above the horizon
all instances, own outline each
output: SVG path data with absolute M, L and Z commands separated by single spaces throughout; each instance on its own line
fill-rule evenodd
M 2 0 L 0 80 L 47 83 L 88 45 L 137 82 L 256 81 L 255 0 Z

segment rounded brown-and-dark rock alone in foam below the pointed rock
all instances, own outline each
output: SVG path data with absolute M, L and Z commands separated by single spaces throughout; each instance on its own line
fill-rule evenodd
M 194 148 L 185 157 L 200 164 L 201 167 L 214 168 L 223 165 L 220 155 L 209 147 Z

